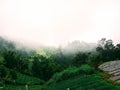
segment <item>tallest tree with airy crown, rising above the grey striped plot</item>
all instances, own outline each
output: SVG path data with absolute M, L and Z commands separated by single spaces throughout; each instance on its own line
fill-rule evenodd
M 98 42 L 98 47 L 96 48 L 96 51 L 99 53 L 99 59 L 101 61 L 114 60 L 114 50 L 115 46 L 113 44 L 113 41 L 111 39 L 106 40 L 105 38 L 102 38 Z

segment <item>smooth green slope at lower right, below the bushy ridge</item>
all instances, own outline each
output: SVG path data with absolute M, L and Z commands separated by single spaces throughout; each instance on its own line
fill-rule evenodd
M 103 80 L 98 75 L 87 75 L 71 78 L 50 85 L 45 90 L 120 90 L 115 85 Z

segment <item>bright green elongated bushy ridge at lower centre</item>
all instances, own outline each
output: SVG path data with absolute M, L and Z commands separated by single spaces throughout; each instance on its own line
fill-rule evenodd
M 79 75 L 89 75 L 94 73 L 94 68 L 89 65 L 82 65 L 81 67 L 70 67 L 66 70 L 56 73 L 53 77 L 47 82 L 47 84 L 56 83 L 62 80 L 67 80 L 69 78 L 79 76 Z

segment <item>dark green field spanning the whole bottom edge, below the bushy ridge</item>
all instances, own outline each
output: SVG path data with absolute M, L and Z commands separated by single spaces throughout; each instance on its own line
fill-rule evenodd
M 105 81 L 101 76 L 93 74 L 77 76 L 49 86 L 33 85 L 29 86 L 28 89 L 26 89 L 25 85 L 6 86 L 5 90 L 120 90 L 120 88 Z

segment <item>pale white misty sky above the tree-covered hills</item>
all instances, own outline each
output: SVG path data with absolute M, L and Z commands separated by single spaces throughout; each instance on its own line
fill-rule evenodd
M 120 0 L 0 0 L 0 36 L 58 46 L 120 42 Z

